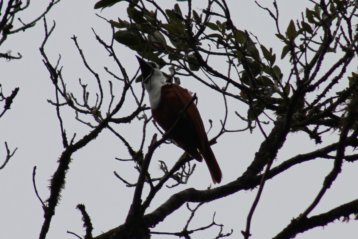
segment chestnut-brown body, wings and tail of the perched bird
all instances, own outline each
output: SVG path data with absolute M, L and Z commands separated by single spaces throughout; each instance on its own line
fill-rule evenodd
M 167 132 L 175 123 L 180 111 L 190 102 L 192 96 L 179 85 L 161 86 L 159 105 L 152 110 L 154 120 Z M 204 158 L 214 183 L 220 183 L 221 169 L 210 147 L 203 121 L 197 106 L 192 103 L 169 134 L 190 156 L 201 162 Z

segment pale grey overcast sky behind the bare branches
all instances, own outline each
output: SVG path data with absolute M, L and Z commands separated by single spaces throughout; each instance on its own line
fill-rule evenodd
M 18 16 L 24 22 L 31 21 L 47 7 L 47 1 L 33 1 L 30 8 Z M 172 8 L 175 1 L 157 1 L 163 9 Z M 204 1 L 203 1 L 204 2 Z M 253 1 L 228 1 L 234 24 L 238 29 L 247 29 L 255 34 L 260 42 L 266 47 L 272 46 L 277 56 L 280 56 L 282 43 L 274 36 L 275 25 L 267 12 L 259 9 Z M 103 67 L 120 75 L 116 64 L 108 57 L 101 45 L 96 41 L 92 32 L 93 28 L 100 37 L 109 42 L 111 39 L 110 25 L 95 14 L 100 14 L 107 19 L 116 20 L 119 16 L 126 18 L 127 3 L 100 10 L 94 10 L 96 1 L 68 1 L 62 0 L 50 10 L 46 16 L 48 25 L 56 22 L 54 33 L 49 38 L 45 47 L 50 61 L 53 64 L 61 54 L 60 64 L 63 66 L 64 80 L 69 91 L 81 94 L 78 78 L 87 83 L 89 89 L 96 90 L 96 80 L 83 66 L 74 42 L 71 39 L 76 35 L 78 43 L 85 54 L 90 66 L 98 72 L 103 82 L 105 94 L 108 95 L 108 80 L 115 82 L 110 75 L 105 73 Z M 272 8 L 271 1 L 259 0 L 259 3 Z M 309 1 L 277 1 L 280 10 L 281 28 L 286 29 L 290 19 L 299 18 L 302 11 L 308 6 L 312 8 Z M 180 3 L 184 4 L 185 3 Z M 182 6 L 181 5 L 181 6 Z M 183 5 L 183 6 L 184 6 Z M 204 6 L 203 6 L 204 7 Z M 198 10 L 199 11 L 199 10 Z M 15 26 L 20 26 L 15 21 Z M 57 159 L 63 151 L 61 132 L 55 107 L 47 102 L 47 99 L 55 100 L 55 90 L 49 79 L 39 47 L 44 38 L 43 21 L 39 21 L 35 27 L 9 36 L 1 46 L 0 52 L 11 49 L 13 54 L 20 52 L 23 56 L 20 60 L 6 62 L 0 59 L 0 82 L 3 85 L 4 95 L 10 95 L 15 87 L 20 87 L 11 110 L 0 119 L 0 164 L 6 156 L 4 142 L 8 142 L 11 150 L 18 147 L 8 165 L 0 170 L 0 238 L 37 238 L 43 223 L 42 206 L 37 199 L 32 185 L 32 170 L 37 166 L 36 184 L 39 195 L 45 200 L 49 196 L 48 180 L 57 168 Z M 122 61 L 129 76 L 137 70 L 138 64 L 135 52 L 130 51 L 119 43 L 116 44 L 117 56 Z M 284 75 L 289 72 L 290 64 L 287 59 L 279 61 Z M 357 62 L 357 59 L 354 59 Z M 215 67 L 220 70 L 225 63 L 217 62 Z M 352 69 L 354 71 L 354 69 Z M 356 71 L 356 68 L 355 68 Z M 223 70 L 226 72 L 226 70 Z M 199 82 L 190 78 L 181 78 L 183 87 L 197 92 L 198 108 L 202 115 L 205 128 L 209 128 L 208 119 L 213 120 L 213 129 L 209 138 L 218 133 L 219 120 L 223 119 L 223 99 L 220 94 L 205 89 Z M 120 83 L 113 90 L 121 90 Z M 141 85 L 135 84 L 138 95 Z M 345 85 L 341 86 L 342 88 Z M 91 95 L 92 102 L 95 95 Z M 116 98 L 119 99 L 119 96 Z M 108 102 L 108 98 L 106 99 Z M 145 99 L 147 105 L 149 101 Z M 246 105 L 229 100 L 230 118 L 228 129 L 245 128 L 245 122 L 234 116 L 234 111 L 245 115 Z M 126 111 L 130 113 L 135 107 L 133 102 L 127 102 Z M 87 134 L 91 129 L 74 119 L 74 112 L 63 109 L 61 114 L 67 135 L 77 133 L 76 139 Z M 148 116 L 149 112 L 146 113 Z M 268 121 L 268 119 L 262 119 Z M 129 143 L 139 148 L 142 121 L 133 121 L 131 124 L 113 126 L 119 132 L 126 135 Z M 265 126 L 266 133 L 270 132 L 272 123 Z M 147 139 L 150 139 L 156 130 L 153 125 L 148 126 Z M 69 136 L 70 137 L 70 136 Z M 335 133 L 329 135 L 337 139 Z M 242 132 L 237 134 L 226 134 L 219 138 L 218 143 L 213 145 L 217 161 L 223 172 L 221 185 L 235 180 L 250 165 L 255 152 L 258 150 L 263 136 L 259 130 L 252 134 Z M 146 140 L 147 149 L 149 140 Z M 274 165 L 298 154 L 309 150 L 323 147 L 316 146 L 304 134 L 290 134 L 284 148 L 280 151 Z M 174 164 L 183 153 L 182 149 L 175 145 L 163 145 L 156 150 L 151 161 L 151 172 L 158 173 L 158 160 L 163 159 L 169 165 Z M 350 152 L 348 152 L 350 153 Z M 170 156 L 170 157 L 169 157 Z M 88 214 L 92 218 L 93 235 L 97 236 L 101 231 L 108 231 L 122 224 L 126 218 L 134 188 L 126 187 L 114 175 L 113 171 L 126 178 L 130 182 L 136 182 L 137 173 L 131 162 L 118 162 L 115 157 L 129 158 L 125 146 L 108 130 L 89 143 L 86 147 L 73 154 L 73 162 L 67 174 L 67 184 L 62 192 L 61 204 L 56 208 L 55 216 L 51 222 L 51 228 L 47 238 L 75 238 L 66 231 L 73 231 L 79 235 L 84 234 L 82 228 L 81 214 L 76 210 L 76 205 L 83 203 Z M 172 160 L 172 161 L 170 161 Z M 293 217 L 297 217 L 312 202 L 316 193 L 322 186 L 324 177 L 333 167 L 333 161 L 327 159 L 315 160 L 302 163 L 281 173 L 273 180 L 267 181 L 261 200 L 256 208 L 252 219 L 252 239 L 271 238 L 290 223 Z M 344 163 L 343 172 L 326 192 L 321 203 L 311 212 L 309 216 L 326 212 L 334 207 L 358 198 L 358 167 L 357 164 Z M 187 185 L 181 185 L 174 189 L 163 188 L 149 208 L 154 210 L 158 205 L 168 199 L 174 192 L 185 188 L 194 187 L 205 189 L 211 183 L 211 177 L 207 172 L 205 164 L 198 163 L 196 172 L 190 177 Z M 145 188 L 144 195 L 147 192 Z M 246 216 L 250 210 L 256 190 L 241 191 L 224 199 L 216 200 L 210 204 L 203 205 L 194 217 L 189 229 L 199 228 L 211 223 L 214 212 L 215 221 L 223 224 L 223 233 L 234 230 L 231 238 L 241 238 L 241 230 L 245 230 Z M 195 205 L 191 205 L 194 207 Z M 168 216 L 153 231 L 176 232 L 182 230 L 190 212 L 185 208 L 179 209 Z M 358 234 L 357 221 L 342 223 L 336 221 L 325 228 L 316 228 L 304 234 L 296 236 L 297 239 L 308 238 L 354 238 Z M 209 229 L 193 238 L 212 238 L 217 234 L 218 228 Z M 153 235 L 152 238 L 168 238 L 167 236 Z

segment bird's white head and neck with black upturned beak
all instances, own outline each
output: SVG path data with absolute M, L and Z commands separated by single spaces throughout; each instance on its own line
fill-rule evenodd
M 146 62 L 136 56 L 142 72 L 143 85 L 149 94 L 150 107 L 156 109 L 159 105 L 161 87 L 166 85 L 166 78 L 154 62 Z

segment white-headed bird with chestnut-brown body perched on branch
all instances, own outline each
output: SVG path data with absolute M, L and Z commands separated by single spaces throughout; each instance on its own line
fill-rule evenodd
M 155 62 L 146 62 L 136 56 L 142 73 L 142 82 L 149 95 L 153 119 L 168 132 L 185 106 L 192 100 L 191 92 L 166 78 Z M 187 111 L 169 132 L 168 138 L 199 162 L 206 162 L 214 183 L 220 183 L 222 172 L 210 147 L 203 120 L 192 102 Z

